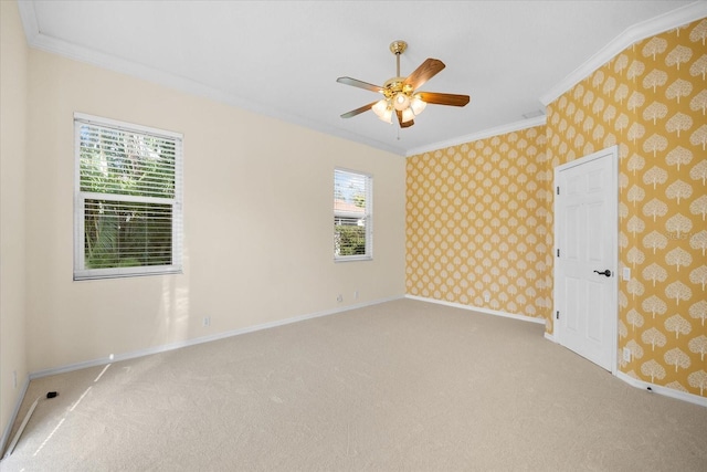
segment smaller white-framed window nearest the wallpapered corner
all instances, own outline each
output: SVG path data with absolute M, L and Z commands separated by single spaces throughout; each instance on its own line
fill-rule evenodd
M 351 170 L 334 170 L 334 259 L 370 260 L 373 179 Z

